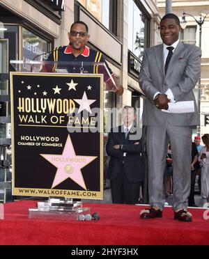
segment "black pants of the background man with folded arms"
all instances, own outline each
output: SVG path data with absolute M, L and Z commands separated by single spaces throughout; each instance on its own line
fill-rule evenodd
M 112 203 L 135 204 L 139 201 L 140 182 L 130 182 L 123 167 L 116 179 L 111 180 Z

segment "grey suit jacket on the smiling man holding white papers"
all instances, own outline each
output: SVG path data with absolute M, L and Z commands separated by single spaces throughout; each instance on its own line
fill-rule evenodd
M 143 111 L 144 125 L 165 125 L 168 121 L 176 126 L 199 124 L 199 114 L 192 89 L 201 76 L 201 49 L 194 45 L 178 43 L 167 74 L 164 73 L 163 45 L 145 49 L 139 73 L 139 85 L 146 95 Z M 171 89 L 176 102 L 194 100 L 194 113 L 165 113 L 155 107 L 153 96 L 158 91 Z

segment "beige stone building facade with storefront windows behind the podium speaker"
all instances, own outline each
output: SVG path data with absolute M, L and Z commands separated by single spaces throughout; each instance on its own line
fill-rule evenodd
M 138 76 L 144 48 L 157 42 L 157 0 L 0 0 L 1 201 L 11 198 L 9 72 L 15 68 L 10 61 L 42 60 L 54 47 L 68 45 L 70 24 L 76 20 L 88 24 L 89 47 L 104 54 L 125 89 L 120 97 L 105 91 L 104 112 L 126 104 L 140 108 L 141 116 L 144 95 Z

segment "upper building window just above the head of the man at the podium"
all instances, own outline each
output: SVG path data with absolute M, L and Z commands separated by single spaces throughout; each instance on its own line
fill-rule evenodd
M 114 0 L 78 0 L 107 29 L 111 31 L 111 16 Z M 113 15 L 113 14 L 112 14 Z

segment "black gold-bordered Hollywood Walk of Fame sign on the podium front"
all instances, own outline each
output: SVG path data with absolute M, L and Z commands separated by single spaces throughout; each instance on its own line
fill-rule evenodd
M 103 198 L 103 77 L 11 72 L 13 195 Z

